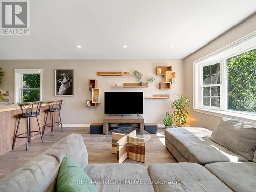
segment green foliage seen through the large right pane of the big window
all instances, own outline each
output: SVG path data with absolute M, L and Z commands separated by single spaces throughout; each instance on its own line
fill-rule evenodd
M 227 59 L 228 109 L 256 112 L 256 49 Z

